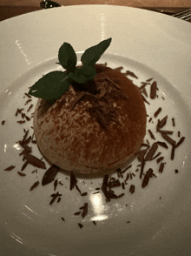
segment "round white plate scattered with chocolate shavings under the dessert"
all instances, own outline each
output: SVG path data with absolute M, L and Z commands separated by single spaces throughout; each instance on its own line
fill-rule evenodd
M 5 120 L 0 128 L 0 254 L 189 255 L 191 24 L 148 10 L 84 5 L 13 17 L 1 22 L 0 34 L 0 121 Z M 27 100 L 23 94 L 37 78 L 60 69 L 57 51 L 63 42 L 72 44 L 79 57 L 89 46 L 108 37 L 113 38 L 112 44 L 101 62 L 135 72 L 139 78 L 133 80 L 139 86 L 154 77 L 159 98 L 149 100 L 148 114 L 162 106 L 159 118 L 168 114 L 166 128 L 172 129 L 170 119 L 175 118 L 173 136 L 177 140 L 177 131 L 181 131 L 186 140 L 175 152 L 174 161 L 169 159 L 169 150 L 161 151 L 167 162 L 164 172 L 159 173 L 155 165 L 157 178 L 144 189 L 139 172 L 132 169 L 135 177 L 128 182 L 125 196 L 106 203 L 102 193 L 93 194 L 102 179 L 78 179 L 82 192 L 89 192 L 81 197 L 76 190 L 69 191 L 69 176 L 59 173 L 57 178 L 63 186 L 59 185 L 57 191 L 63 194 L 62 200 L 49 205 L 52 184 L 38 185 L 30 192 L 30 186 L 41 181 L 44 171 L 31 173 L 36 168 L 27 166 L 25 177 L 17 174 L 23 161 L 16 141 L 23 137 L 23 128 L 30 128 L 32 123 L 16 123 L 20 119 L 15 117 L 16 109 L 23 107 Z M 30 116 L 28 106 L 24 112 Z M 155 129 L 155 124 L 149 123 L 148 129 Z M 36 146 L 33 151 L 40 156 Z M 3 171 L 10 165 L 16 168 Z M 179 173 L 175 174 L 175 169 Z M 135 184 L 134 194 L 128 192 L 131 184 Z M 89 212 L 82 219 L 74 213 L 85 202 L 89 203 Z M 82 229 L 78 223 L 82 223 Z

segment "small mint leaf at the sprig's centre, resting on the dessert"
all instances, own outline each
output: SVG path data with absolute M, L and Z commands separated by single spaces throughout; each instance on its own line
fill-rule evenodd
M 92 66 L 82 66 L 82 68 L 76 68 L 74 72 L 69 73 L 69 77 L 79 84 L 86 84 L 89 80 L 92 80 L 95 75 L 95 67 Z

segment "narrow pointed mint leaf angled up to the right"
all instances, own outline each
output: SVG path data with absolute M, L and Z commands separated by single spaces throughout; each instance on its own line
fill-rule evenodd
M 94 65 L 102 56 L 103 52 L 107 50 L 109 44 L 111 43 L 111 38 L 103 40 L 101 43 L 90 47 L 82 54 L 81 61 L 85 65 Z

